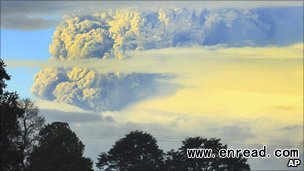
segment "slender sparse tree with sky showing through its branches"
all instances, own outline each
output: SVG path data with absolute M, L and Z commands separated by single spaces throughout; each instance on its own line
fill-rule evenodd
M 19 101 L 18 107 L 23 110 L 23 115 L 18 118 L 21 129 L 20 151 L 22 168 L 25 170 L 28 164 L 28 157 L 32 153 L 34 145 L 37 144 L 39 131 L 44 125 L 44 118 L 39 115 L 38 107 L 30 99 Z

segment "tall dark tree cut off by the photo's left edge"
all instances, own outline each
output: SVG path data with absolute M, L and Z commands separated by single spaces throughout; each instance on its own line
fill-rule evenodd
M 20 170 L 22 158 L 18 148 L 18 136 L 20 127 L 18 117 L 23 112 L 18 108 L 18 95 L 5 91 L 5 81 L 10 76 L 5 71 L 5 64 L 0 59 L 0 170 Z

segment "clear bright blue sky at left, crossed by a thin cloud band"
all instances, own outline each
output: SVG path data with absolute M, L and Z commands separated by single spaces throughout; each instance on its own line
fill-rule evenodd
M 1 30 L 1 58 L 4 60 L 43 60 L 50 57 L 49 45 L 55 28 L 36 31 Z M 20 97 L 33 97 L 30 91 L 39 68 L 7 67 L 12 79 L 8 90 Z

